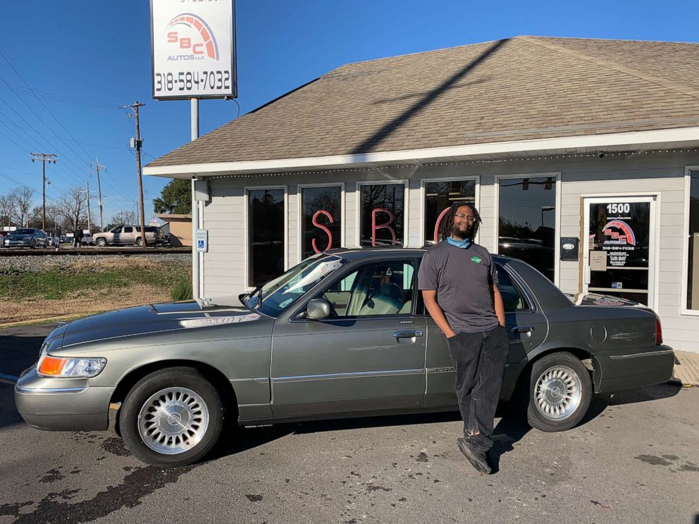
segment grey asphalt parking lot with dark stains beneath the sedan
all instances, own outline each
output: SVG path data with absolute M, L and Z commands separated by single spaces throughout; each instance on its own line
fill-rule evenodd
M 111 431 L 23 423 L 8 377 L 51 328 L 0 330 L 0 524 L 699 523 L 698 388 L 595 397 L 555 434 L 505 414 L 489 476 L 456 447 L 458 413 L 239 430 L 206 461 L 161 470 Z

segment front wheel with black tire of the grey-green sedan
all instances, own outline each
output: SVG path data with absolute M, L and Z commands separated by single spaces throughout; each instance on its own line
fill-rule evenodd
M 167 368 L 142 378 L 120 410 L 129 451 L 160 467 L 187 466 L 211 451 L 223 428 L 221 395 L 193 368 Z

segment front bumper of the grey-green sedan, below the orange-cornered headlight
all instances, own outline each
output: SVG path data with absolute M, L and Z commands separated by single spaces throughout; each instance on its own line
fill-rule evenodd
M 39 377 L 32 366 L 15 385 L 15 404 L 27 424 L 39 430 L 101 431 L 109 427 L 113 387 L 94 387 L 87 378 Z

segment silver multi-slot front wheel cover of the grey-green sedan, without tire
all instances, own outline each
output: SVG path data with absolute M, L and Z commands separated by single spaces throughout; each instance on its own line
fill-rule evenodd
M 138 433 L 156 453 L 177 455 L 193 449 L 209 428 L 204 399 L 186 387 L 168 387 L 152 395 L 138 413 Z

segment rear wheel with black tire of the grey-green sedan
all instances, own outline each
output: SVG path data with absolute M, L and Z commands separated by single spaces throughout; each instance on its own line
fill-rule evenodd
M 543 356 L 531 368 L 527 422 L 545 432 L 569 430 L 585 416 L 591 397 L 590 372 L 579 358 L 564 351 Z

